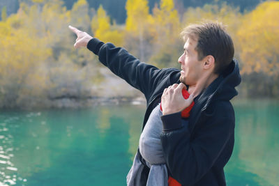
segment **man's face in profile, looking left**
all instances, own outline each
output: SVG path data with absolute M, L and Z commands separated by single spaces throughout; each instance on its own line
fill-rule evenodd
M 188 38 L 184 45 L 184 52 L 179 57 L 181 64 L 180 82 L 189 86 L 197 84 L 202 73 L 202 61 L 197 60 L 197 40 Z

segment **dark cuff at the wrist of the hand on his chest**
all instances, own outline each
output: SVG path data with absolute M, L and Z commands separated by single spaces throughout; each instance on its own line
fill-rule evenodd
M 181 111 L 174 114 L 167 114 L 161 116 L 163 123 L 163 131 L 176 130 L 182 127 Z

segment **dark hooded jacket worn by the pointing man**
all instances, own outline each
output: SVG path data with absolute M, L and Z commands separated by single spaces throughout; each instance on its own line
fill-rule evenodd
M 112 43 L 93 38 L 87 48 L 99 56 L 103 65 L 144 93 L 147 109 L 144 123 L 163 94 L 172 84 L 179 84 L 180 70 L 158 69 L 140 62 Z M 226 185 L 224 166 L 234 148 L 234 109 L 229 102 L 241 82 L 238 63 L 234 60 L 197 98 L 189 122 L 181 113 L 162 116 L 161 142 L 169 175 L 181 185 Z M 138 151 L 138 153 L 140 153 Z M 144 160 L 142 159 L 144 163 Z M 146 184 L 149 168 L 142 171 Z

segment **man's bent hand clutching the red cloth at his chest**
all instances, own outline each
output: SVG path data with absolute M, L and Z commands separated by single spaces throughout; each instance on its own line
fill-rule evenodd
M 188 99 L 183 98 L 182 88 L 186 88 L 183 83 L 173 84 L 172 86 L 165 88 L 161 98 L 163 115 L 183 111 L 183 109 L 189 107 L 193 102 L 193 95 L 190 95 Z

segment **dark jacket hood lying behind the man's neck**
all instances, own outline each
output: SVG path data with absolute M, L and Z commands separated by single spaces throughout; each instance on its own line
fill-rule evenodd
M 199 96 L 198 101 L 206 101 L 202 110 L 206 109 L 212 100 L 232 100 L 238 94 L 235 87 L 240 83 L 239 63 L 234 59 L 227 69 Z

